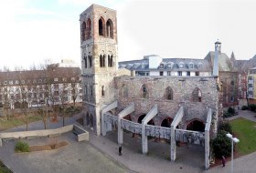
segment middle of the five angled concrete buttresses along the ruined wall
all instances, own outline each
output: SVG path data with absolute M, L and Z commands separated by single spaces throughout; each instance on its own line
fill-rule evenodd
M 148 123 L 148 121 L 150 121 L 150 119 L 155 117 L 157 115 L 157 113 L 158 113 L 158 109 L 157 109 L 157 105 L 155 105 L 154 107 L 152 107 L 150 109 L 150 111 L 147 113 L 147 115 L 142 120 L 142 148 L 143 148 L 143 154 L 146 154 L 148 152 L 147 136 L 146 136 L 146 133 L 145 133 L 145 125 Z

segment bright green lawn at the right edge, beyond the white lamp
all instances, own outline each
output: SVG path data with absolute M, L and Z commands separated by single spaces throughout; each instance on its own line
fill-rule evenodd
M 247 155 L 256 151 L 256 123 L 242 117 L 230 121 L 235 136 L 240 139 L 237 144 L 239 154 Z

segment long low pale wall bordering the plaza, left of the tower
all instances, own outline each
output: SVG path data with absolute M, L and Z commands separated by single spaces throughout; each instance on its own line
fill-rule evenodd
M 74 131 L 77 134 L 78 141 L 89 140 L 89 132 L 78 127 L 77 125 L 69 125 L 66 127 L 59 127 L 55 129 L 44 129 L 44 130 L 32 130 L 32 131 L 18 131 L 18 132 L 3 132 L 0 133 L 0 147 L 3 145 L 3 139 L 8 138 L 26 138 L 26 137 L 48 137 L 54 135 L 60 135 Z

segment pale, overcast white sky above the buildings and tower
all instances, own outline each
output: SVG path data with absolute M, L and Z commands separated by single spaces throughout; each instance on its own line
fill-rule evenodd
M 80 63 L 80 13 L 91 4 L 117 10 L 119 61 L 145 55 L 204 58 L 219 39 L 237 59 L 256 54 L 256 1 L 5 0 L 0 2 L 2 66 L 44 59 Z

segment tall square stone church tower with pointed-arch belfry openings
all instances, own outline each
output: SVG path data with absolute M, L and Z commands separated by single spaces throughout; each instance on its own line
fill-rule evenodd
M 101 134 L 101 109 L 116 98 L 116 11 L 91 5 L 80 14 L 81 76 L 84 87 L 84 126 Z

